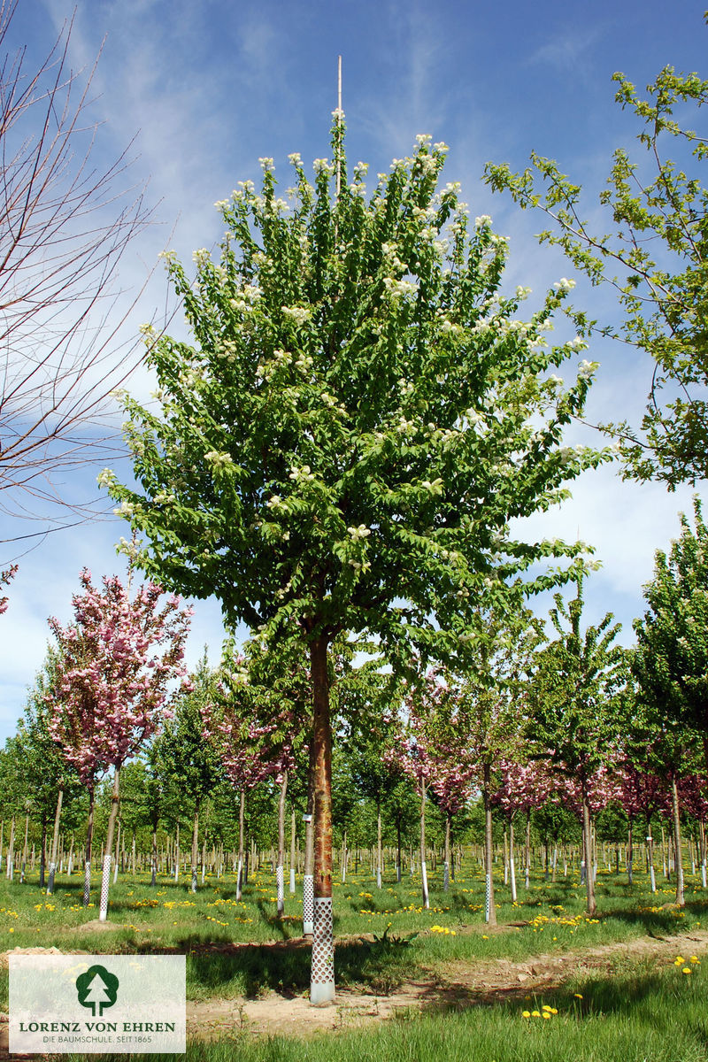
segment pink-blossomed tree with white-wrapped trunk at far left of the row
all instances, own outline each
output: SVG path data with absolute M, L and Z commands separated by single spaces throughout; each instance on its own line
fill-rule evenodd
M 118 815 L 119 775 L 123 764 L 160 725 L 169 683 L 186 675 L 183 649 L 192 615 L 155 583 L 140 586 L 133 599 L 116 576 L 93 586 L 84 569 L 82 594 L 74 594 L 73 622 L 52 618 L 56 639 L 55 684 L 47 695 L 49 730 L 89 793 L 84 905 L 90 885 L 93 800 L 97 780 L 114 768 L 100 919 L 108 911 L 113 836 Z

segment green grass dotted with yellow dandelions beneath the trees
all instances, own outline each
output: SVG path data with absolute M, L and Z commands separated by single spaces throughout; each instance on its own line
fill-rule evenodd
M 299 886 L 299 883 L 298 883 Z M 419 883 L 405 877 L 377 890 L 368 874 L 335 885 L 336 976 L 341 987 L 386 996 L 408 980 L 443 977 L 454 964 L 485 960 L 521 962 L 534 956 L 582 954 L 600 945 L 631 945 L 642 938 L 666 938 L 708 928 L 708 895 L 687 874 L 687 907 L 671 906 L 666 883 L 657 894 L 644 875 L 626 885 L 624 874 L 599 873 L 594 919 L 584 913 L 585 895 L 576 876 L 554 884 L 532 879 L 519 889 L 517 904 L 497 887 L 501 928 L 483 920 L 484 883 L 478 868 L 457 875 L 448 893 L 435 886 L 431 909 L 419 906 Z M 98 890 L 98 880 L 97 880 Z M 94 892 L 97 891 L 94 890 Z M 270 873 L 252 876 L 243 902 L 236 901 L 232 875 L 207 877 L 196 894 L 187 883 L 125 875 L 111 887 L 110 928 L 96 931 L 97 907 L 81 906 L 82 883 L 57 878 L 54 896 L 44 895 L 36 876 L 24 885 L 0 880 L 0 933 L 4 948 L 55 946 L 63 952 L 185 953 L 188 999 L 239 999 L 274 990 L 306 995 L 309 949 L 298 944 L 299 898 L 286 892 L 286 918 L 276 918 Z M 97 897 L 94 896 L 94 900 Z M 667 906 L 663 906 L 667 905 Z M 241 942 L 243 947 L 235 947 Z M 669 945 L 670 946 L 670 945 Z M 674 964 L 673 954 L 658 961 L 620 947 L 602 969 L 579 962 L 570 977 L 549 994 L 532 991 L 477 993 L 465 1006 L 446 1012 L 404 1012 L 392 1021 L 328 1037 L 254 1039 L 247 1027 L 222 1043 L 192 1042 L 190 1059 L 234 1058 L 243 1062 L 300 1059 L 318 1062 L 465 1059 L 505 1062 L 570 1058 L 590 1060 L 706 1060 L 708 992 L 703 965 Z M 697 958 L 697 956 L 694 956 Z M 706 956 L 708 967 L 708 956 Z M 684 969 L 690 973 L 683 973 Z M 0 978 L 0 1009 L 6 1010 L 7 971 Z M 277 1000 L 275 1000 L 277 1006 Z M 546 1009 L 543 1009 L 546 1008 Z M 524 1011 L 528 1016 L 524 1016 Z M 534 1013 L 537 1012 L 537 1013 Z M 543 1016 L 547 1014 L 548 1016 Z M 98 1058 L 98 1056 L 90 1056 Z M 154 1057 L 154 1056 L 153 1056 Z M 66 1058 L 66 1056 L 65 1056 Z

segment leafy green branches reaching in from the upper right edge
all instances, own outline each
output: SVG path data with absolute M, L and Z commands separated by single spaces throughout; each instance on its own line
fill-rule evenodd
M 486 179 L 522 209 L 551 219 L 540 242 L 559 245 L 593 285 L 616 288 L 624 321 L 599 330 L 646 352 L 654 371 L 641 425 L 606 430 L 620 439 L 627 477 L 663 480 L 671 489 L 708 476 L 708 189 L 698 179 L 708 138 L 685 124 L 690 105 L 697 112 L 708 103 L 708 81 L 667 66 L 642 99 L 623 73 L 614 80 L 615 99 L 639 119 L 646 155 L 614 153 L 600 192 L 601 227 L 583 217 L 582 187 L 535 152 L 523 173 L 488 164 Z M 667 150 L 678 153 L 678 162 Z M 584 314 L 573 316 L 582 333 L 597 328 Z

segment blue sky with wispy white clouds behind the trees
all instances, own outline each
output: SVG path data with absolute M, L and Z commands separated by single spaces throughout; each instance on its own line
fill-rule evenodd
M 540 297 L 558 277 L 571 275 L 570 267 L 557 253 L 538 249 L 533 234 L 542 227 L 540 218 L 518 212 L 482 184 L 484 164 L 506 160 L 518 169 L 535 149 L 588 189 L 599 189 L 612 150 L 636 134 L 632 117 L 614 103 L 612 72 L 623 70 L 640 87 L 666 64 L 706 75 L 702 12 L 702 4 L 685 0 L 671 7 L 634 0 L 443 0 L 434 11 L 400 0 L 77 0 L 72 66 L 90 66 L 106 37 L 93 80 L 91 115 L 101 122 L 97 162 L 110 162 L 135 138 L 133 179 L 149 182 L 148 199 L 156 206 L 156 223 L 122 262 L 121 287 L 139 290 L 167 245 L 187 261 L 194 249 L 212 246 L 221 235 L 213 203 L 238 181 L 258 181 L 259 157 L 274 157 L 286 188 L 288 154 L 298 151 L 306 162 L 327 154 L 341 53 L 349 158 L 368 161 L 375 174 L 408 154 L 418 133 L 445 140 L 445 179 L 460 181 L 471 213 L 491 215 L 497 230 L 511 238 L 508 284 L 528 285 Z M 10 46 L 27 45 L 31 66 L 70 14 L 69 0 L 20 0 Z M 158 267 L 124 336 L 137 332 L 165 294 Z M 582 285 L 574 296 L 579 305 L 612 312 L 606 296 L 598 303 Z M 591 415 L 636 419 L 646 365 L 609 343 L 587 356 L 602 363 Z M 144 374 L 132 390 L 146 396 Z M 98 470 L 87 466 L 66 479 L 66 495 L 96 496 Z M 677 512 L 690 511 L 692 492 L 669 495 L 655 484 L 625 484 L 605 468 L 586 476 L 573 493 L 563 510 L 532 521 L 529 533 L 574 538 L 580 531 L 595 546 L 603 567 L 587 588 L 588 617 L 614 611 L 628 641 L 654 550 L 676 534 Z M 97 578 L 122 569 L 113 547 L 127 534 L 111 518 L 42 537 L 37 532 L 48 526 L 45 517 L 57 513 L 34 515 L 40 519 L 0 516 L 1 538 L 36 535 L 3 543 L 0 554 L 0 562 L 18 558 L 20 564 L 0 619 L 0 740 L 14 732 L 24 690 L 41 666 L 47 617 L 69 619 L 84 564 Z M 215 661 L 219 606 L 196 602 L 195 610 L 190 661 L 205 644 Z

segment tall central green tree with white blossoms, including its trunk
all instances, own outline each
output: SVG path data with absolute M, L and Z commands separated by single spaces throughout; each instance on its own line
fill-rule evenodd
M 271 159 L 219 204 L 219 261 L 196 278 L 170 257 L 190 343 L 148 330 L 159 409 L 124 399 L 137 487 L 106 469 L 166 585 L 214 594 L 229 622 L 295 632 L 310 657 L 315 774 L 311 999 L 333 998 L 328 649 L 365 634 L 399 664 L 445 655 L 480 597 L 503 604 L 537 561 L 579 544 L 528 544 L 510 520 L 547 509 L 601 455 L 563 446 L 592 374 L 551 372 L 582 348 L 549 346 L 562 280 L 529 321 L 504 294 L 506 242 L 468 226 L 459 188 L 437 190 L 446 147 L 421 136 L 379 176 L 333 162 L 314 186 L 291 156 L 290 203 Z M 554 583 L 535 569 L 525 588 Z

